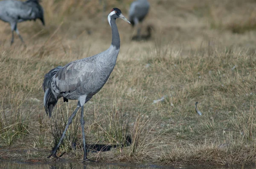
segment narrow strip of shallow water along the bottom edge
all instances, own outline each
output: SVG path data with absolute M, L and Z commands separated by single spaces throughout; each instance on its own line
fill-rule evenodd
M 93 163 L 58 161 L 48 163 L 23 163 L 18 161 L 0 161 L 0 169 L 256 169 L 250 166 L 157 166 L 153 164 L 128 164 L 128 163 Z

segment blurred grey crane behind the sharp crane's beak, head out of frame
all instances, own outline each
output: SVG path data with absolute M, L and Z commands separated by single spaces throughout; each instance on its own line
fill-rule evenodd
M 138 25 L 139 22 L 144 20 L 145 16 L 148 14 L 149 7 L 148 0 L 135 0 L 131 3 L 129 20 L 132 26 Z M 137 35 L 140 35 L 140 28 L 137 30 Z

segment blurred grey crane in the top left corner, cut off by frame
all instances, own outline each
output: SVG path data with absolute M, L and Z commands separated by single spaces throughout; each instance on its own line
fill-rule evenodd
M 8 22 L 12 29 L 11 45 L 14 42 L 14 34 L 20 37 L 21 42 L 25 45 L 21 37 L 17 23 L 26 20 L 40 19 L 44 25 L 44 10 L 38 2 L 39 0 L 27 0 L 25 2 L 18 0 L 2 0 L 0 1 L 0 20 Z

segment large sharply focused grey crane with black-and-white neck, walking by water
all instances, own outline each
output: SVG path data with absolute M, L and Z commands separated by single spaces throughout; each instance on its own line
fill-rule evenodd
M 78 100 L 76 110 L 74 110 L 72 115 L 68 118 L 67 125 L 61 138 L 48 158 L 51 156 L 58 158 L 56 156 L 58 146 L 61 144 L 68 126 L 72 123 L 74 116 L 81 107 L 80 122 L 84 146 L 84 160 L 87 159 L 84 135 L 84 104 L 101 90 L 116 65 L 116 59 L 120 48 L 120 37 L 116 25 L 116 18 L 120 18 L 130 23 L 122 15 L 120 9 L 113 8 L 111 10 L 108 15 L 108 22 L 112 29 L 111 46 L 102 53 L 76 60 L 63 66 L 54 76 L 52 76 L 52 79 L 49 82 L 49 87 L 45 90 L 44 108 L 46 113 L 49 114 L 49 117 L 51 117 L 54 105 L 61 97 L 69 100 Z M 54 72 L 54 70 L 51 71 Z M 51 74 L 51 72 L 49 73 Z

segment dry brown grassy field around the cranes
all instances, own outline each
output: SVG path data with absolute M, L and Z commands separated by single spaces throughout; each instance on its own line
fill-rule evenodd
M 10 46 L 9 24 L 0 22 L 1 159 L 49 160 L 77 101 L 60 99 L 53 117 L 47 117 L 44 74 L 107 49 L 108 12 L 118 7 L 128 17 L 131 1 L 42 0 L 46 26 L 39 20 L 18 24 L 26 48 L 17 36 Z M 120 145 L 125 135 L 132 144 L 89 152 L 88 158 L 161 165 L 255 163 L 256 1 L 149 1 L 142 27 L 145 32 L 152 25 L 153 37 L 131 41 L 136 30 L 117 20 L 116 67 L 85 104 L 88 144 Z M 62 158 L 82 159 L 79 117 L 58 150 L 66 153 Z

